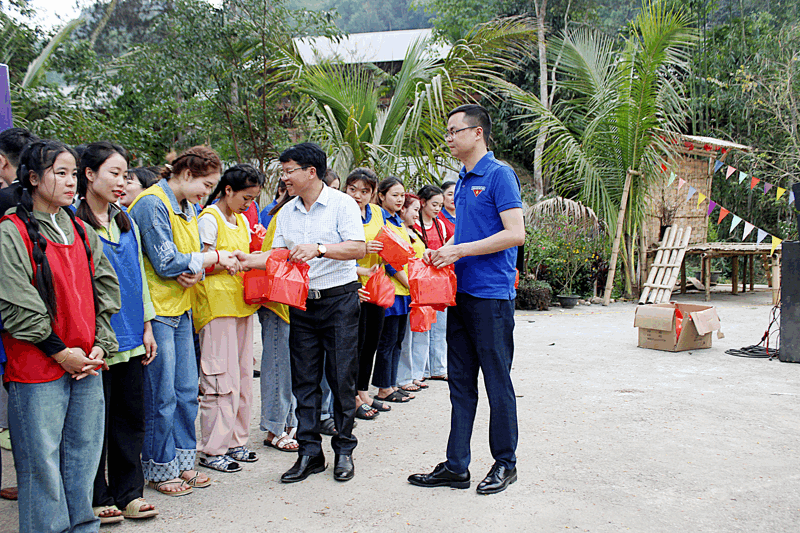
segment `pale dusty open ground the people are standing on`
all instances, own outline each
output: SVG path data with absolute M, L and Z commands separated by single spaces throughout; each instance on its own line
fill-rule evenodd
M 237 474 L 206 470 L 212 486 L 181 498 L 145 489 L 159 517 L 102 530 L 795 532 L 800 365 L 725 354 L 760 340 L 768 293 L 715 294 L 713 304 L 725 338 L 682 353 L 638 348 L 633 304 L 518 312 L 519 481 L 501 494 L 474 490 L 492 464 L 483 391 L 472 488 L 406 482 L 444 459 L 450 405 L 447 384 L 433 382 L 411 403 L 360 422 L 349 483 L 335 482 L 329 467 L 281 484 L 294 456 L 263 446 L 256 405 L 257 463 Z M 332 460 L 327 438 L 325 448 Z M 7 451 L 3 471 L 8 486 Z M 16 530 L 16 505 L 0 501 L 0 531 Z

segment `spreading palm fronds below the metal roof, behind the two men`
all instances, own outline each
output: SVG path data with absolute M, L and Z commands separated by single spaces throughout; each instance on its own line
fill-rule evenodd
M 447 113 L 494 98 L 501 71 L 516 68 L 533 35 L 526 18 L 494 20 L 443 59 L 426 54 L 435 43 L 420 39 L 394 76 L 372 65 L 306 64 L 292 44 L 271 65 L 273 90 L 302 97 L 301 121 L 337 172 L 368 166 L 383 176 L 439 181 L 442 165 L 453 166 L 442 138 Z M 385 96 L 388 104 L 381 103 Z

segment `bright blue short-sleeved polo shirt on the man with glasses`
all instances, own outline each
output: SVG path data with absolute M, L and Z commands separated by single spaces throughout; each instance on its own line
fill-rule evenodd
M 500 213 L 521 208 L 520 183 L 514 170 L 489 152 L 470 172 L 462 167 L 456 183 L 455 244 L 474 242 L 503 230 Z M 512 300 L 516 298 L 517 248 L 456 261 L 458 292 L 476 298 Z

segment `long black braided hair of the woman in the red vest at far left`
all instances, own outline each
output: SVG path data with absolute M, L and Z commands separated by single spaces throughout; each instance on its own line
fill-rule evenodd
M 51 168 L 56 161 L 56 158 L 63 152 L 72 154 L 75 161 L 78 160 L 78 154 L 69 146 L 59 141 L 42 140 L 35 141 L 28 144 L 23 149 L 19 158 L 19 167 L 17 168 L 17 178 L 20 181 L 21 187 L 17 191 L 17 216 L 25 224 L 28 230 L 28 237 L 33 243 L 33 251 L 31 259 L 35 265 L 35 272 L 33 283 L 39 296 L 42 298 L 47 314 L 50 320 L 55 321 L 56 313 L 58 311 L 56 306 L 56 295 L 53 287 L 53 272 L 50 269 L 50 263 L 47 261 L 47 239 L 39 232 L 39 221 L 33 216 L 33 192 L 36 188 L 31 183 L 31 173 L 41 177 L 47 169 Z M 97 289 L 94 286 L 93 264 L 92 264 L 92 249 L 86 240 L 86 232 L 76 220 L 75 214 L 71 209 L 65 208 L 72 225 L 75 227 L 77 237 L 83 242 L 84 249 L 86 250 L 86 257 L 89 260 L 89 276 L 92 280 L 92 296 L 94 298 L 95 312 L 98 309 Z

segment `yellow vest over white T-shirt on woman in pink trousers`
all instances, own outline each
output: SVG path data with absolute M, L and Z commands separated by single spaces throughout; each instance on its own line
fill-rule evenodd
M 217 250 L 228 252 L 250 250 L 250 232 L 244 216 L 235 213 L 236 230 L 232 230 L 225 223 L 225 219 L 218 209 L 206 207 L 200 216 L 208 214 L 217 219 Z M 258 306 L 244 303 L 243 274 L 231 276 L 226 271 L 222 271 L 216 274 L 206 274 L 206 278 L 197 284 L 193 309 L 194 329 L 199 332 L 215 318 L 250 316 L 258 310 Z

